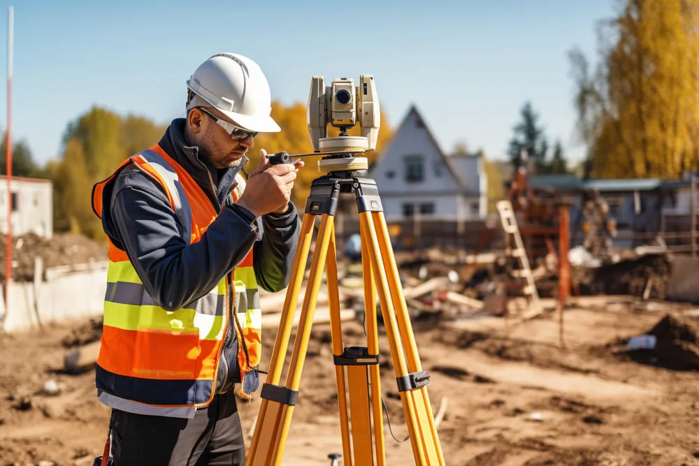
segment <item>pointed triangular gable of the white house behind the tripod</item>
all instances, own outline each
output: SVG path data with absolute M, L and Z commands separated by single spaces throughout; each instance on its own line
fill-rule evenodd
M 415 107 L 410 108 L 370 176 L 380 194 L 461 191 L 454 168 Z

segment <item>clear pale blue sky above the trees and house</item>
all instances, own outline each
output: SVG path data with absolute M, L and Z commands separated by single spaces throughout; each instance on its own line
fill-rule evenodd
M 567 52 L 595 50 L 612 0 L 34 1 L 15 7 L 13 138 L 43 163 L 92 105 L 166 123 L 184 114 L 185 81 L 211 54 L 257 61 L 273 98 L 304 102 L 312 75 L 375 76 L 396 126 L 417 105 L 442 148 L 465 141 L 503 158 L 531 101 L 570 159 L 575 143 Z M 0 92 L 6 127 L 6 92 Z

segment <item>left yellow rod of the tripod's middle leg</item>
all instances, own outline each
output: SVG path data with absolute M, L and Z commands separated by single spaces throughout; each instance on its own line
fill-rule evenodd
M 333 228 L 334 230 L 334 228 Z M 333 342 L 333 355 L 343 354 L 343 331 L 340 322 L 340 291 L 338 286 L 338 263 L 335 245 L 335 232 L 330 237 L 328 258 L 326 259 L 326 277 L 328 282 L 328 303 L 330 307 L 330 332 Z M 340 431 L 343 437 L 343 464 L 352 466 L 352 450 L 349 444 L 349 421 L 347 420 L 347 387 L 345 370 L 341 365 L 335 366 L 338 383 L 338 405 L 340 410 Z

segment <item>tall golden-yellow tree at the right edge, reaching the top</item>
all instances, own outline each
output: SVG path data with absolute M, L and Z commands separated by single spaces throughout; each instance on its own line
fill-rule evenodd
M 679 177 L 699 157 L 699 1 L 625 0 L 591 71 L 570 52 L 577 132 L 600 177 Z

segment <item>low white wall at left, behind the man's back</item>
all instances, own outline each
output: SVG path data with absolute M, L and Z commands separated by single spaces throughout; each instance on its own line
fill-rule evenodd
M 10 282 L 10 308 L 0 308 L 7 333 L 38 324 L 100 316 L 107 289 L 107 262 L 46 270 L 46 282 Z M 77 270 L 75 270 L 77 269 Z M 3 300 L 0 298 L 0 303 Z

